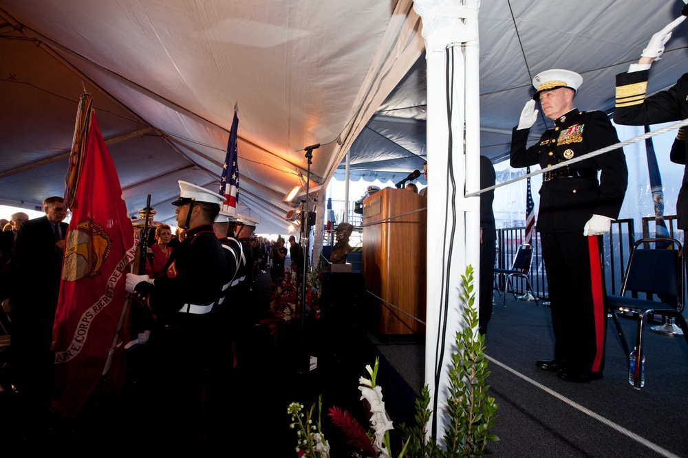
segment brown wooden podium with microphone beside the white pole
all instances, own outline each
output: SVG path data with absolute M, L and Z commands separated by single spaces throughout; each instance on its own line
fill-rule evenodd
M 427 199 L 387 187 L 363 201 L 363 277 L 380 301 L 380 334 L 422 334 L 425 326 Z M 405 312 L 405 313 L 404 313 Z

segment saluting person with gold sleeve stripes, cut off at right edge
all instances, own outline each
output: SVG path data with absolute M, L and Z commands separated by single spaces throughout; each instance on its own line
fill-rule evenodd
M 685 7 L 684 10 L 688 8 Z M 650 39 L 643 49 L 638 63 L 630 65 L 627 73 L 616 75 L 616 108 L 614 122 L 630 126 L 647 126 L 662 122 L 680 121 L 688 117 L 688 73 L 684 73 L 666 91 L 645 97 L 649 68 L 654 60 L 664 53 L 664 45 L 671 38 L 671 31 L 685 20 L 680 16 Z M 671 161 L 684 163 L 688 147 L 685 130 L 679 130 L 674 147 L 671 148 Z M 678 229 L 688 229 L 688 174 L 684 172 L 681 189 L 676 201 Z

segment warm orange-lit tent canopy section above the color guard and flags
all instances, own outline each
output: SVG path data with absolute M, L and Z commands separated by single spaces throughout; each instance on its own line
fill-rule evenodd
M 385 65 L 385 47 L 413 34 L 413 25 L 402 30 L 410 2 L 396 14 L 392 6 L 3 1 L 0 198 L 63 194 L 76 100 L 86 90 L 130 213 L 151 193 L 157 219 L 169 221 L 178 179 L 219 189 L 238 103 L 240 202 L 259 214 L 261 231 L 283 232 L 290 207 L 281 200 L 305 179 L 299 150 L 323 144 L 311 187 L 325 184 L 363 128 L 361 115 L 376 108 L 364 106 L 376 94 L 368 86 L 387 76 L 369 67 Z

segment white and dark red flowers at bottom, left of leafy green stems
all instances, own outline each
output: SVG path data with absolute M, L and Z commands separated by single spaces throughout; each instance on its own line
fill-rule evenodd
M 370 428 L 366 432 L 348 411 L 341 411 L 339 407 L 332 407 L 328 415 L 332 424 L 337 426 L 347 437 L 347 443 L 355 446 L 366 457 L 389 458 L 390 444 L 389 431 L 394 429 L 383 402 L 382 387 L 375 384 L 378 374 L 379 358 L 375 360 L 375 366 L 367 365 L 370 378 L 361 377 L 358 379 L 361 391 L 361 400 L 365 400 L 370 411 Z M 318 400 L 318 419 L 313 420 L 315 404 L 310 411 L 304 414 L 303 404 L 292 402 L 289 404 L 287 413 L 292 415 L 290 428 L 297 428 L 297 453 L 299 457 L 305 458 L 330 458 L 330 443 L 325 440 L 321 429 L 322 398 Z M 399 457 L 403 457 L 406 446 L 401 450 Z

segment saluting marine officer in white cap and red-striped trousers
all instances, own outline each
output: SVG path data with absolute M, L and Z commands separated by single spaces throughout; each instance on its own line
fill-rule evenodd
M 578 73 L 568 70 L 535 76 L 533 100 L 526 103 L 513 130 L 513 168 L 539 164 L 547 169 L 619 141 L 607 115 L 574 108 L 573 98 L 582 82 Z M 537 119 L 536 100 L 555 126 L 526 148 L 530 126 Z M 607 312 L 600 236 L 619 216 L 627 176 L 621 148 L 543 175 L 537 231 L 552 304 L 555 358 L 535 365 L 556 371 L 564 380 L 602 378 Z

